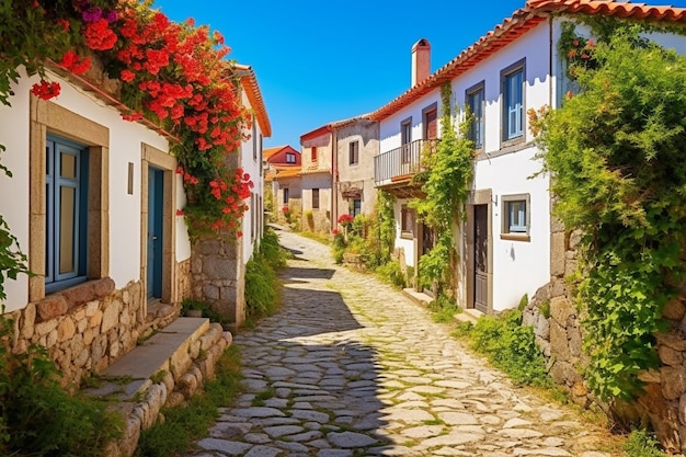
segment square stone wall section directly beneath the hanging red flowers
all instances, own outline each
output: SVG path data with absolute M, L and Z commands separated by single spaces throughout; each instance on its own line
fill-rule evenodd
M 208 302 L 214 311 L 237 327 L 245 322 L 242 245 L 230 233 L 225 233 L 196 241 L 191 255 L 193 298 Z

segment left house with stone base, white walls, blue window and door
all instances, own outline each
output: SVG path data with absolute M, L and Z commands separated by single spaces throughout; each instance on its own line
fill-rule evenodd
M 231 159 L 256 184 L 256 212 L 245 214 L 247 236 L 235 243 L 242 256 L 229 265 L 239 283 L 262 230 L 260 138 L 270 126 L 254 73 L 236 71 L 245 71 L 237 90 L 256 118 L 252 139 Z M 192 258 L 199 247 L 181 216 L 185 193 L 170 134 L 145 119 L 124 121 L 117 81 L 95 68 L 76 76 L 49 67 L 48 78 L 61 85 L 57 98 L 33 95 L 39 78 L 23 75 L 12 105 L 0 106 L 2 164 L 13 172 L 0 173 L 0 194 L 15 196 L 0 199 L 0 214 L 34 273 L 4 282 L 4 311 L 15 320 L 14 350 L 45 346 L 64 382 L 78 385 L 176 319 L 197 288 Z M 210 298 L 205 287 L 196 292 Z M 241 294 L 236 287 L 229 298 Z

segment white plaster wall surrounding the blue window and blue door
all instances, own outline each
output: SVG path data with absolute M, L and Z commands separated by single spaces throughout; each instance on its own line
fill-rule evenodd
M 168 141 L 145 126 L 123 121 L 119 112 L 106 106 L 89 94 L 55 75 L 50 80 L 61 84 L 61 93 L 52 102 L 110 129 L 110 276 L 115 287 L 121 288 L 130 281 L 140 279 L 140 167 L 141 145 L 148 144 L 168 151 Z M 8 151 L 0 162 L 8 165 L 14 178 L 0 176 L 0 214 L 20 240 L 22 251 L 28 252 L 28 94 L 37 77 L 22 78 L 13 87 L 12 106 L 0 106 L 0 144 Z M 78 129 L 78 126 L 75 126 Z M 134 193 L 128 195 L 128 162 L 134 163 Z M 183 191 L 178 194 L 178 207 L 183 207 Z M 10 197 L 11 196 L 11 197 Z M 178 208 L 176 208 L 178 209 Z M 191 255 L 185 224 L 176 219 L 176 260 Z M 22 308 L 27 301 L 27 281 L 5 282 L 8 310 Z

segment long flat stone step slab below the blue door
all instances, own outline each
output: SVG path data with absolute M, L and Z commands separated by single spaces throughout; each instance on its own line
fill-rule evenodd
M 208 329 L 206 318 L 178 318 L 101 373 L 102 386 L 84 391 L 98 397 L 115 396 L 119 401 L 130 400 L 151 386 L 157 373 L 187 369 L 188 346 Z

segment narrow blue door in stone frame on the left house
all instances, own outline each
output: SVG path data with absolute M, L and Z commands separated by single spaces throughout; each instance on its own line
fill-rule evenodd
M 148 170 L 148 298 L 162 297 L 164 172 Z

